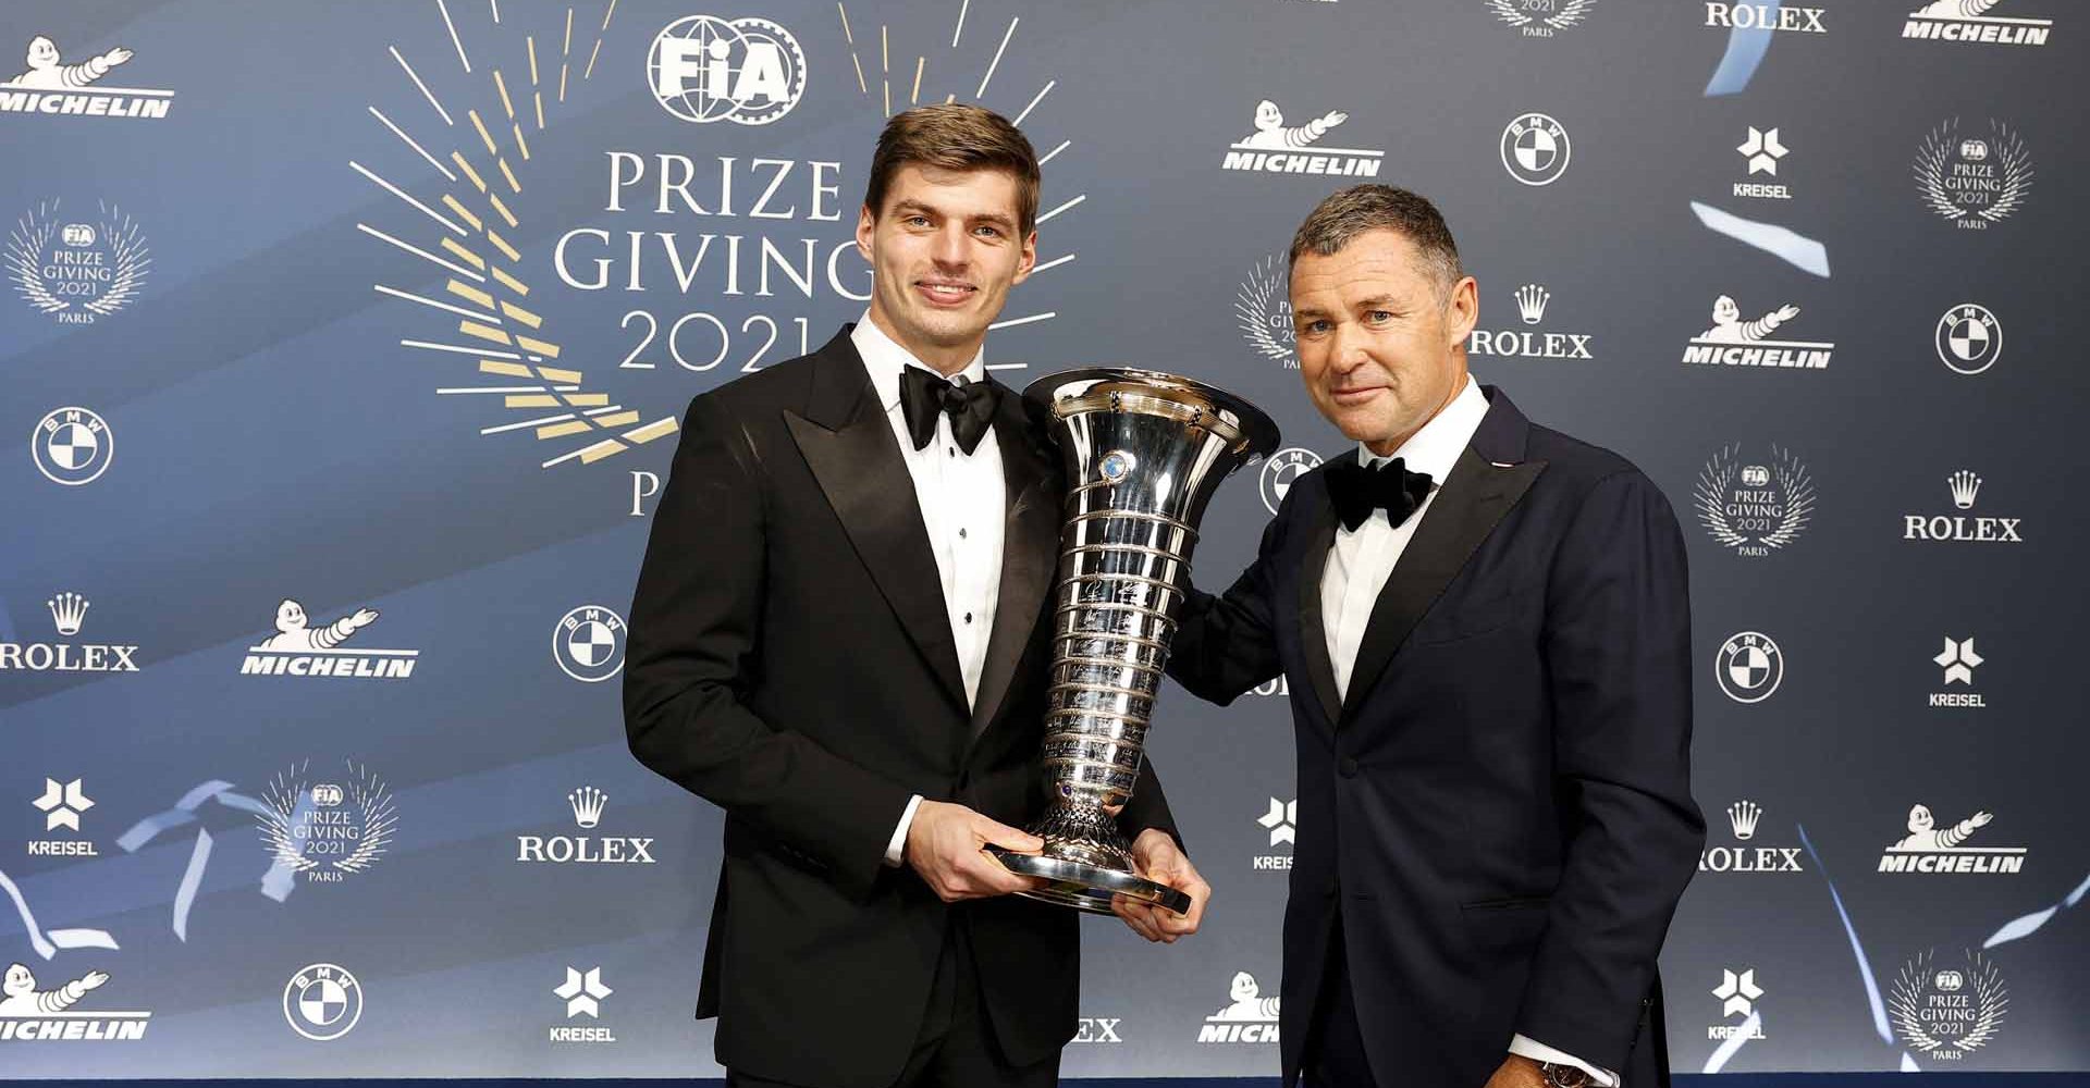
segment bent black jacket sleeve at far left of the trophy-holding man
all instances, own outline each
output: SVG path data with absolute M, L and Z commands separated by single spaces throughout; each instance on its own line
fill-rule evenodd
M 690 403 L 631 599 L 625 735 L 648 768 L 863 896 L 913 791 L 746 706 L 769 533 L 757 466 L 740 424 Z

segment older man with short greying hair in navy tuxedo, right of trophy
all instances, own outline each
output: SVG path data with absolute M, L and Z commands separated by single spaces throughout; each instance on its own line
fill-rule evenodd
M 1655 954 L 1705 835 L 1676 516 L 1467 376 L 1478 288 L 1421 196 L 1323 200 L 1292 311 L 1356 449 L 1168 660 L 1223 704 L 1290 679 L 1285 1084 L 1668 1084 Z

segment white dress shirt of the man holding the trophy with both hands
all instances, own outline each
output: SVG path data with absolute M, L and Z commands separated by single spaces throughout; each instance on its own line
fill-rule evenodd
M 907 474 L 915 484 L 915 503 L 922 507 L 928 547 L 936 553 L 936 578 L 943 583 L 943 606 L 951 620 L 957 672 L 966 683 L 970 708 L 980 695 L 980 668 L 986 664 L 986 639 L 995 631 L 995 604 L 1001 597 L 1001 522 L 1009 501 L 1001 478 L 1001 447 L 995 443 L 995 428 L 989 426 L 980 445 L 966 453 L 951 434 L 951 416 L 938 411 L 936 436 L 915 449 L 913 434 L 907 432 L 907 413 L 901 409 L 901 372 L 915 368 L 938 378 L 940 374 L 872 324 L 869 311 L 857 320 L 849 342 L 863 357 L 872 391 L 886 422 L 892 424 L 901 459 L 907 462 Z M 984 382 L 984 349 L 953 380 Z M 922 796 L 915 794 L 901 812 L 901 823 L 886 844 L 886 865 L 897 867 L 905 860 L 907 827 L 913 825 L 920 806 Z

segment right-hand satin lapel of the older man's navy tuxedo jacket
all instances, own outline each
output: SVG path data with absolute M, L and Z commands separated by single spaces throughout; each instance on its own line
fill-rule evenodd
M 1371 606 L 1371 622 L 1365 639 L 1356 647 L 1356 666 L 1350 668 L 1350 697 L 1344 702 L 1344 718 L 1365 704 L 1365 695 L 1386 672 L 1386 664 L 1421 622 L 1430 606 L 1444 595 L 1465 562 L 1503 516 L 1524 499 L 1532 480 L 1547 468 L 1545 462 L 1524 462 L 1515 466 L 1494 466 L 1484 462 L 1473 449 L 1459 455 L 1444 489 L 1423 512 L 1423 524 L 1394 564 L 1386 578 L 1386 589 Z

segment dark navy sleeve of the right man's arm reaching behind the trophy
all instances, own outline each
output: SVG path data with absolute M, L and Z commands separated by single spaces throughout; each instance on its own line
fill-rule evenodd
M 1298 489 L 1294 487 L 1294 493 Z M 1256 562 L 1233 581 L 1225 595 L 1210 595 L 1183 578 L 1183 608 L 1168 645 L 1168 675 L 1200 700 L 1227 706 L 1275 677 L 1277 635 L 1271 608 L 1281 526 L 1292 505 L 1279 510 L 1262 530 Z

